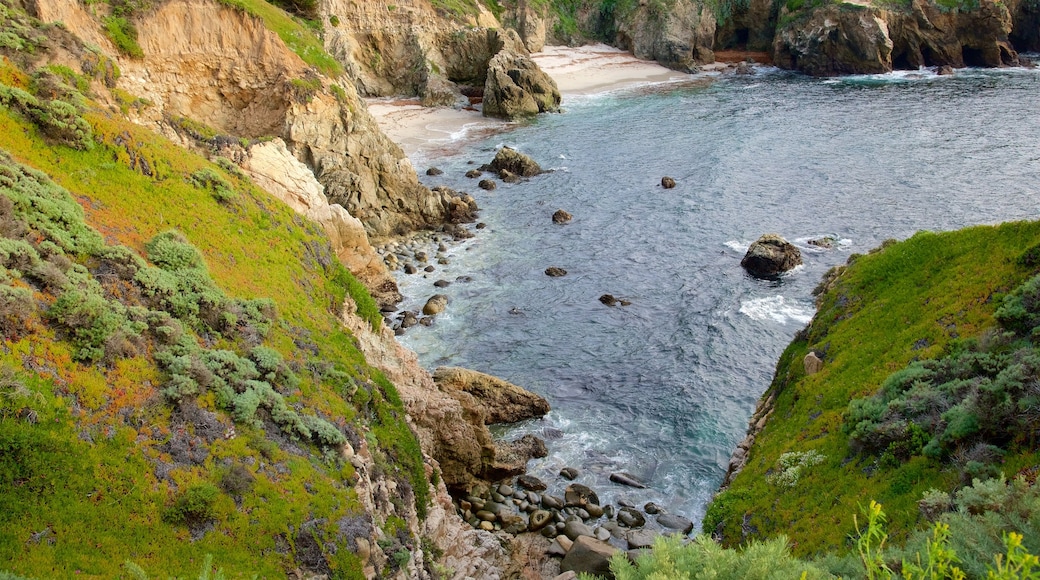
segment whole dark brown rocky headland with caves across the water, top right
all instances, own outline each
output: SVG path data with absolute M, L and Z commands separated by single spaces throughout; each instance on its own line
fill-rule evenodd
M 1019 10 L 1023 21 L 1028 11 Z M 774 61 L 815 76 L 885 73 L 918 67 L 1017 64 L 1012 12 L 995 0 L 948 10 L 927 0 L 889 10 L 859 3 L 830 4 L 798 14 L 781 10 Z

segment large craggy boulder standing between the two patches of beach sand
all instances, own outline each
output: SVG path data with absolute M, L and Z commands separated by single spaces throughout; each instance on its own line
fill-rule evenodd
M 560 110 L 556 81 L 530 56 L 503 49 L 488 63 L 484 116 L 517 120 Z

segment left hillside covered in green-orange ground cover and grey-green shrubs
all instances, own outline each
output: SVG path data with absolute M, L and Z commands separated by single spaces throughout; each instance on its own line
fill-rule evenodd
M 99 108 L 111 68 L 45 65 L 66 33 L 0 8 L 0 570 L 350 578 L 373 527 L 404 565 L 424 468 L 321 229 Z M 399 516 L 363 510 L 343 442 Z

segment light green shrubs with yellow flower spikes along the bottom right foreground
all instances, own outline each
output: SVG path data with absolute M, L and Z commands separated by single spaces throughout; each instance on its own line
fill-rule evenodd
M 1040 578 L 1040 558 L 1035 555 L 1040 545 L 1038 499 L 1040 491 L 1023 479 L 1011 485 L 1003 479 L 976 481 L 951 503 L 954 511 L 917 533 L 906 548 L 887 545 L 887 517 L 881 504 L 870 501 L 861 509 L 862 520 L 852 516 L 853 556 L 828 554 L 814 560 L 799 559 L 791 555 L 783 535 L 752 539 L 734 550 L 723 548 L 704 534 L 688 543 L 676 534 L 656 538 L 653 550 L 634 562 L 627 553 L 617 553 L 610 560 L 610 571 L 618 580 L 1035 579 Z M 582 575 L 583 580 L 591 578 Z

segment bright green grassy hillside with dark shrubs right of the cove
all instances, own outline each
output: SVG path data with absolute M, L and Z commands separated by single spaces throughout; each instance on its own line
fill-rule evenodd
M 877 500 L 899 545 L 929 525 L 918 500 L 930 489 L 1000 472 L 1035 479 L 1040 335 L 1024 315 L 1009 326 L 1016 308 L 1037 308 L 1025 283 L 1038 243 L 1036 222 L 919 233 L 832 271 L 777 366 L 773 416 L 705 531 L 730 546 L 784 533 L 796 554 L 847 552 L 853 515 Z M 824 360 L 812 375 L 809 351 Z M 1026 538 L 1033 553 L 1036 543 Z

